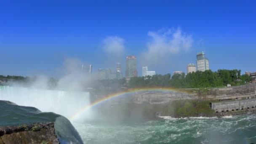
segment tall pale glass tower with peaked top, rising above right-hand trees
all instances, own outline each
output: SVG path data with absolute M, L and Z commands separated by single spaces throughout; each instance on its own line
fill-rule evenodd
M 197 70 L 205 71 L 209 70 L 209 60 L 205 57 L 205 53 L 202 51 L 197 53 Z

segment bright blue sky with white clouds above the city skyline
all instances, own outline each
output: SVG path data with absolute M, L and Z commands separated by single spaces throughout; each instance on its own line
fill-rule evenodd
M 59 75 L 65 59 L 115 68 L 125 56 L 158 74 L 186 72 L 205 51 L 210 69 L 256 71 L 253 0 L 2 0 L 0 75 Z M 113 49 L 114 48 L 114 49 Z M 115 49 L 116 48 L 116 49 Z M 155 54 L 154 54 L 155 53 Z

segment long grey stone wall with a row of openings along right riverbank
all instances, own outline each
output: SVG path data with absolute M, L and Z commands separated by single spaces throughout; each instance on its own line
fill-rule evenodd
M 236 110 L 243 110 L 243 109 L 251 109 L 255 107 L 256 107 L 256 98 L 237 100 L 237 101 L 215 102 L 211 104 L 211 109 L 215 110 L 215 112 L 236 111 Z

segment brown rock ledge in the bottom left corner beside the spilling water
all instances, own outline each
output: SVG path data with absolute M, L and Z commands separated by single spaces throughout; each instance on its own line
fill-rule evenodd
M 0 127 L 0 144 L 59 144 L 54 123 Z

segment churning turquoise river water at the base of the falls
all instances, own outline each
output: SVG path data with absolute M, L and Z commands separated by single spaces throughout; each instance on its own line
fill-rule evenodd
M 165 117 L 126 123 L 73 123 L 87 144 L 250 144 L 256 142 L 256 115 L 224 118 Z

